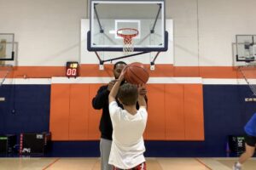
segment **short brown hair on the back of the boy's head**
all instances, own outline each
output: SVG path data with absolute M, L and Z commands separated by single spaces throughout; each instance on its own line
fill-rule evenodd
M 125 83 L 119 88 L 117 97 L 124 105 L 136 105 L 138 92 L 137 86 L 131 83 Z

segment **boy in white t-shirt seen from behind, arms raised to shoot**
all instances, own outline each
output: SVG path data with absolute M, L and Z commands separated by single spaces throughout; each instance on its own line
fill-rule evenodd
M 113 165 L 113 170 L 146 170 L 143 132 L 148 112 L 145 96 L 139 93 L 145 88 L 143 85 L 137 88 L 130 83 L 120 87 L 124 73 L 125 69 L 108 95 L 109 113 L 113 124 L 113 142 L 108 163 Z M 124 110 L 117 105 L 116 96 Z M 137 102 L 140 106 L 139 110 L 136 108 Z

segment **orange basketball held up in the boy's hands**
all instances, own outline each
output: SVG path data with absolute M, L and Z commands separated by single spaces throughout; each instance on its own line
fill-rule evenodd
M 127 65 L 125 80 L 131 84 L 145 84 L 148 82 L 149 74 L 142 63 L 131 63 Z

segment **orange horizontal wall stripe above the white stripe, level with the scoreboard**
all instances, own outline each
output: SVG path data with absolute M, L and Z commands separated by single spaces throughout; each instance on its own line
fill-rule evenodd
M 104 71 L 99 70 L 99 65 L 80 65 L 80 77 L 113 77 L 113 65 L 104 65 Z M 232 66 L 173 66 L 155 65 L 155 70 L 150 71 L 150 77 L 203 77 L 203 78 L 241 78 L 237 67 Z M 256 69 L 251 70 L 255 72 Z M 253 73 L 252 77 L 256 77 Z M 14 67 L 9 78 L 50 78 L 65 77 L 65 66 L 18 66 Z

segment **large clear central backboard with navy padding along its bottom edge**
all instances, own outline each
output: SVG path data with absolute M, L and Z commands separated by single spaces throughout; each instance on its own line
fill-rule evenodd
M 165 1 L 90 0 L 89 51 L 123 51 L 124 38 L 118 31 L 124 28 L 137 30 L 133 51 L 166 51 Z

